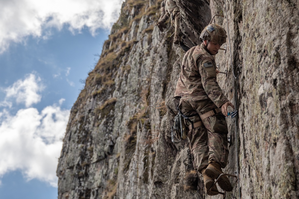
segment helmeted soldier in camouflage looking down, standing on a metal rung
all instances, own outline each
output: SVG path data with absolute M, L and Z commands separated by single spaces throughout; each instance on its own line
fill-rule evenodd
M 190 115 L 192 121 L 186 120 L 186 125 L 190 129 L 187 138 L 193 166 L 202 173 L 208 195 L 218 194 L 213 184 L 228 161 L 228 127 L 224 116 L 228 116 L 228 106 L 234 108 L 234 105 L 216 81 L 219 71 L 213 57 L 226 37 L 225 30 L 218 24 L 205 27 L 200 35 L 202 44 L 192 47 L 184 55 L 175 92 L 175 97 L 180 98 L 182 114 Z M 224 191 L 232 190 L 225 175 L 220 177 L 218 185 Z

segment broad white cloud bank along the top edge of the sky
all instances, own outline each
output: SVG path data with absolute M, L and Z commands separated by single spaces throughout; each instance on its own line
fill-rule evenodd
M 24 42 L 27 36 L 43 39 L 52 27 L 80 32 L 89 28 L 110 29 L 117 20 L 123 0 L 0 0 L 0 53 L 10 42 Z

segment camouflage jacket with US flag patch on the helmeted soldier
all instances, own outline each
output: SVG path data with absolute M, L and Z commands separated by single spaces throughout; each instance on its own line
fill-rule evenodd
M 217 107 L 228 101 L 216 80 L 216 63 L 202 43 L 186 52 L 174 97 L 202 95 Z

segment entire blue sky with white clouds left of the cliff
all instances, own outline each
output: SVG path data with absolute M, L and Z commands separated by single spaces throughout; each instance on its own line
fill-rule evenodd
M 69 112 L 122 0 L 0 1 L 0 198 L 57 198 Z

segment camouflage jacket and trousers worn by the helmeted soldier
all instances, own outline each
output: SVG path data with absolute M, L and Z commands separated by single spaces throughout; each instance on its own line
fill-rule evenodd
M 175 97 L 180 98 L 179 107 L 183 114 L 198 113 L 198 116 L 190 117 L 193 123 L 201 120 L 200 115 L 219 108 L 228 101 L 216 81 L 214 57 L 208 53 L 203 43 L 192 47 L 184 55 Z M 219 112 L 202 122 L 204 125 L 188 132 L 194 169 L 201 172 L 212 161 L 224 168 L 228 160 L 228 128 L 225 117 Z M 189 122 L 187 125 L 190 125 Z

